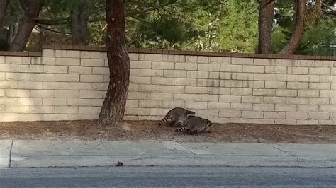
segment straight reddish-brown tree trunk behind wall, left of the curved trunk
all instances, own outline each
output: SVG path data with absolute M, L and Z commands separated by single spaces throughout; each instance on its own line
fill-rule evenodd
M 262 0 L 259 9 L 259 54 L 271 54 L 271 33 L 275 0 Z

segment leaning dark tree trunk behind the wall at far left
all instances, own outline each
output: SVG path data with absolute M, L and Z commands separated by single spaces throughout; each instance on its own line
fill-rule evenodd
M 37 18 L 40 14 L 42 4 L 40 0 L 30 0 L 30 4 L 25 11 L 25 17 L 21 25 L 18 27 L 18 33 L 16 33 L 9 51 L 22 52 L 26 47 L 26 43 L 30 37 L 30 33 L 35 27 L 35 21 L 33 18 Z

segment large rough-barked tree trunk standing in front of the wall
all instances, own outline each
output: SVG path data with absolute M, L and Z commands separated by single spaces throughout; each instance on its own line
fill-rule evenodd
M 106 22 L 110 83 L 99 115 L 103 125 L 123 120 L 128 95 L 130 58 L 125 48 L 124 0 L 106 0 Z

